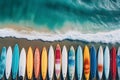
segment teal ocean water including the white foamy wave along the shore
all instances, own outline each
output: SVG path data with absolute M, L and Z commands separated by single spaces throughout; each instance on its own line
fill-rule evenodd
M 120 0 L 0 0 L 0 36 L 120 43 Z

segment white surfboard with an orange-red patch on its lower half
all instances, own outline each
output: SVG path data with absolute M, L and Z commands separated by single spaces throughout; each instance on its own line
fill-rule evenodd
M 98 51 L 98 76 L 100 80 L 102 79 L 102 75 L 103 75 L 103 48 L 102 46 L 100 46 Z

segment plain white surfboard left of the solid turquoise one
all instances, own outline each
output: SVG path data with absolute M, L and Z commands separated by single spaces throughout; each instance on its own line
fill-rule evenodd
M 6 56 L 6 70 L 5 70 L 6 79 L 8 79 L 10 76 L 11 66 L 12 66 L 12 48 L 11 46 L 9 46 Z

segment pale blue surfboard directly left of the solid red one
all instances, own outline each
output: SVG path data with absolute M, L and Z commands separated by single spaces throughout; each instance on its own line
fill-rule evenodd
M 105 73 L 105 78 L 108 80 L 109 78 L 109 72 L 110 72 L 110 51 L 108 46 L 105 47 L 104 50 L 104 73 Z

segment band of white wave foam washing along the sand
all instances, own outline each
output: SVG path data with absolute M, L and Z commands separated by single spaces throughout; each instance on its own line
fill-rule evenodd
M 120 29 L 110 32 L 81 33 L 78 31 L 68 31 L 66 33 L 46 33 L 37 31 L 17 31 L 10 28 L 0 29 L 0 37 L 26 38 L 28 40 L 41 39 L 43 41 L 57 41 L 64 39 L 82 40 L 87 42 L 120 43 Z

